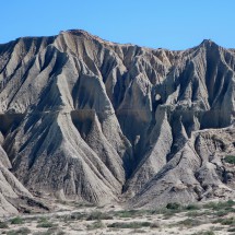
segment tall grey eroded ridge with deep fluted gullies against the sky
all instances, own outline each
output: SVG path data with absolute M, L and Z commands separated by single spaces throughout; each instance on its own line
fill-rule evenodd
M 235 54 L 211 40 L 169 51 L 68 31 L 0 45 L 1 163 L 30 190 L 151 208 L 234 197 L 234 116 Z

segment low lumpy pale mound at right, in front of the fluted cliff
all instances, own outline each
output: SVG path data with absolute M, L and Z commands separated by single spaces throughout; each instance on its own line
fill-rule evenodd
M 225 155 L 234 153 L 234 127 L 195 131 L 131 199 L 131 205 L 152 208 L 176 201 L 184 204 L 234 198 L 234 167 L 223 161 Z

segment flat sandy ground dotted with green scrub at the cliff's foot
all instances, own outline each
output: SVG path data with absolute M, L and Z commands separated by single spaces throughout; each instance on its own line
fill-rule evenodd
M 124 210 L 55 201 L 56 212 L 5 218 L 0 234 L 235 234 L 235 202 L 207 202 L 183 207 L 169 203 L 161 210 Z

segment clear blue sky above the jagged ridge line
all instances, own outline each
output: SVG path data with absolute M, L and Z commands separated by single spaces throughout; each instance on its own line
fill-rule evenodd
M 210 38 L 235 48 L 235 0 L 2 0 L 0 44 L 85 30 L 104 39 L 186 49 Z

